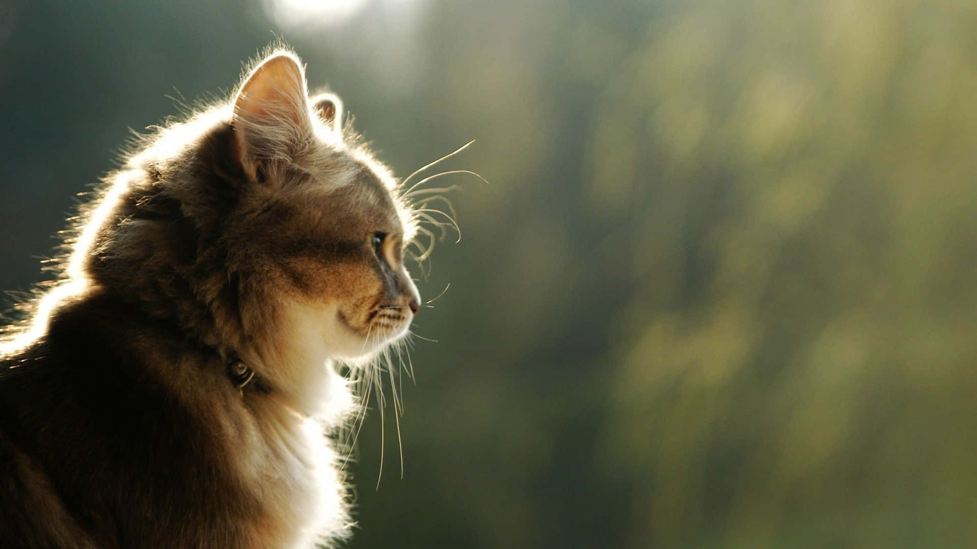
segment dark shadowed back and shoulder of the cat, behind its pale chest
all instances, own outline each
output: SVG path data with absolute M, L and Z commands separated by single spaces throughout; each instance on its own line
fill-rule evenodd
M 192 376 L 207 391 L 217 358 L 153 324 L 93 295 L 0 359 L 0 547 L 245 546 L 233 525 L 258 511 L 222 446 L 247 425 L 219 390 L 211 425 L 200 421 L 174 384 Z

